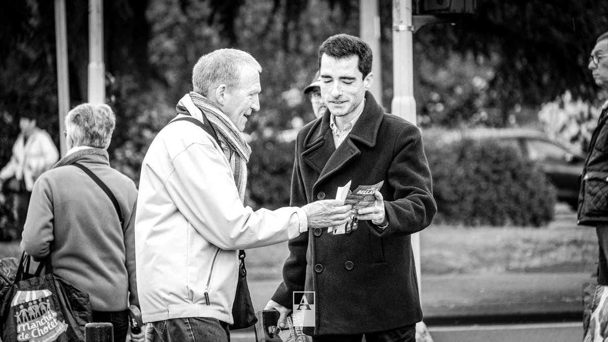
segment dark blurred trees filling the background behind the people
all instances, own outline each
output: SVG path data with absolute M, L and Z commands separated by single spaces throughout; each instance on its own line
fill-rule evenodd
M 196 60 L 218 48 L 236 47 L 250 52 L 264 69 L 262 108 L 246 128 L 255 144 L 249 204 L 285 205 L 293 150 L 291 142 L 277 136 L 294 119 L 313 119 L 301 89 L 311 82 L 325 38 L 358 35 L 359 1 L 106 0 L 104 13 L 106 94 L 117 114 L 109 148 L 112 166 L 137 183 L 151 139 L 191 89 Z M 379 15 L 382 55 L 375 58 L 382 62 L 382 100 L 390 112 L 392 66 L 400 63 L 392 60 L 391 0 L 379 0 Z M 74 106 L 86 101 L 88 2 L 67 1 L 67 25 Z M 477 12 L 454 26 L 421 27 L 413 47 L 418 124 L 541 126 L 541 106 L 545 113 L 553 108 L 544 117 L 570 115 L 559 113 L 566 91 L 571 101 L 595 108 L 597 88 L 587 61 L 595 37 L 605 30 L 608 3 L 587 0 L 477 0 Z M 52 1 L 3 1 L 0 165 L 10 157 L 25 111 L 36 111 L 39 126 L 59 140 L 54 35 Z M 547 106 L 550 102 L 556 105 Z

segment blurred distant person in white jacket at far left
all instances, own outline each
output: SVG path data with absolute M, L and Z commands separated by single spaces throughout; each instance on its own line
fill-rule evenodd
M 21 114 L 19 129 L 21 133 L 13 144 L 13 154 L 0 170 L 2 192 L 15 194 L 16 236 L 21 236 L 23 231 L 34 182 L 59 159 L 55 143 L 49 133 L 38 128 L 33 114 Z

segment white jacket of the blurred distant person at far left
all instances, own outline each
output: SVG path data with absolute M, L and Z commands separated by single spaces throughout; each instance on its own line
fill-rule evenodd
M 36 179 L 58 160 L 59 152 L 49 133 L 36 129 L 27 142 L 21 133 L 13 145 L 9 163 L 0 171 L 0 180 L 15 176 L 17 180 L 25 181 L 27 191 L 32 191 Z

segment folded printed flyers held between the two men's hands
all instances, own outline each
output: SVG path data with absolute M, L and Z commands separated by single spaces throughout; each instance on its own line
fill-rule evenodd
M 368 208 L 373 206 L 376 202 L 376 197 L 374 193 L 376 190 L 380 190 L 384 181 L 374 185 L 360 185 L 357 189 L 354 189 L 353 192 L 350 191 L 350 183 L 348 181 L 345 186 L 340 186 L 336 193 L 336 200 L 343 200 L 344 204 L 350 204 L 353 208 L 353 212 L 356 212 L 358 209 Z M 353 214 L 351 216 L 350 222 L 345 223 L 344 226 L 331 226 L 327 229 L 327 232 L 333 232 L 334 235 L 337 234 L 348 234 L 358 227 L 357 216 Z

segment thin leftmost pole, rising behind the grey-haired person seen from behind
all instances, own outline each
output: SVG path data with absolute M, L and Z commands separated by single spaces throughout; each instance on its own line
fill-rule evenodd
M 55 45 L 57 46 L 57 102 L 59 104 L 59 150 L 61 156 L 67 152 L 66 114 L 70 109 L 70 84 L 67 71 L 67 25 L 66 1 L 55 0 Z

